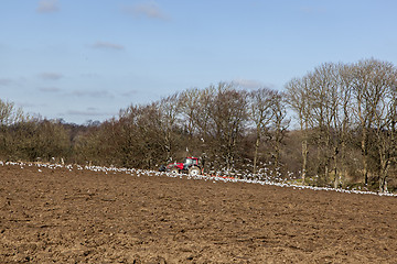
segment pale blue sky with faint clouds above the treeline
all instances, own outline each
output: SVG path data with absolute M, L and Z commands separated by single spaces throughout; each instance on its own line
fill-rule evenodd
M 0 99 L 84 124 L 189 88 L 397 65 L 395 0 L 0 0 Z

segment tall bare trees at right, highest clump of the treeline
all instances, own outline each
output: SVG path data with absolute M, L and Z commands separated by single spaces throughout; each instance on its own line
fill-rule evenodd
M 323 64 L 286 85 L 301 131 L 301 177 L 315 174 L 334 187 L 396 186 L 397 70 L 387 62 Z

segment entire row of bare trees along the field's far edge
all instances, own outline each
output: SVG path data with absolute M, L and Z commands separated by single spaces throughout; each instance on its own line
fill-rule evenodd
M 206 170 L 255 177 L 266 164 L 303 184 L 385 191 L 397 186 L 396 78 L 394 65 L 376 59 L 323 64 L 285 92 L 219 82 L 85 125 L 0 101 L 0 158 L 154 169 L 193 155 Z

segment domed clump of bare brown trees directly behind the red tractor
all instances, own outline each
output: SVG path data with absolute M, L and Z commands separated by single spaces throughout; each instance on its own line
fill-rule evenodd
M 278 166 L 286 113 L 278 91 L 247 92 L 219 82 L 130 106 L 117 120 L 82 134 L 76 146 L 81 160 L 98 164 L 153 168 L 193 155 L 208 169 L 230 172 L 249 163 L 256 173 L 259 161 Z M 262 143 L 270 139 L 273 144 L 265 150 Z M 275 157 L 269 158 L 270 153 Z

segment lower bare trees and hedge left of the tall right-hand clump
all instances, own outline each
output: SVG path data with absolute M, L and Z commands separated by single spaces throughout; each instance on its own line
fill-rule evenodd
M 1 108 L 12 107 L 2 102 Z M 251 167 L 254 174 L 260 163 L 270 162 L 273 167 L 285 163 L 281 152 L 289 125 L 282 92 L 267 88 L 246 91 L 227 82 L 133 105 L 103 123 L 74 125 L 29 118 L 15 108 L 9 113 L 0 121 L 3 160 L 54 157 L 155 168 L 193 155 L 205 160 L 207 169 Z

